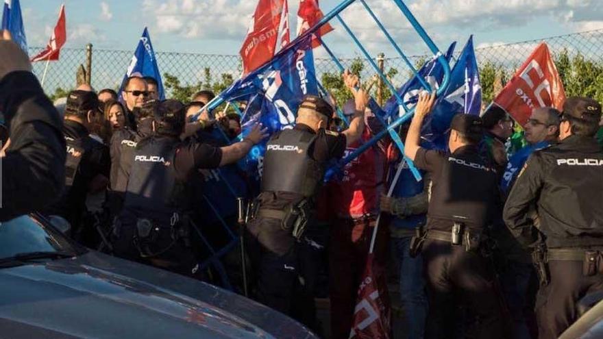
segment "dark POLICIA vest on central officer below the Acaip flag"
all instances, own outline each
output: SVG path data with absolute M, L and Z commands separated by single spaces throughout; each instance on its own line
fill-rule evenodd
M 285 129 L 271 138 L 264 155 L 262 192 L 312 197 L 324 174 L 323 166 L 308 155 L 316 138 L 315 134 L 297 129 Z

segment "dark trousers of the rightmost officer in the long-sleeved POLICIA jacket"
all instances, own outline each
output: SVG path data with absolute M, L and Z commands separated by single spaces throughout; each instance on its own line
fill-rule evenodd
M 577 320 L 576 303 L 603 290 L 603 275 L 582 274 L 582 260 L 550 260 L 550 283 L 538 291 L 536 313 L 540 339 L 558 338 Z

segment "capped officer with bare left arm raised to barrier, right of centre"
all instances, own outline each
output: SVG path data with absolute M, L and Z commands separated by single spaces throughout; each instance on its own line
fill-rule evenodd
M 467 337 L 503 338 L 502 305 L 489 264 L 480 255 L 480 239 L 491 223 L 498 194 L 497 175 L 480 158 L 477 147 L 482 122 L 477 116 L 457 114 L 450 126 L 451 153 L 423 149 L 421 124 L 434 99 L 426 93 L 419 97 L 404 150 L 432 179 L 421 252 L 429 298 L 426 338 L 448 338 L 453 333 L 456 296 L 467 304 L 469 318 L 476 319 Z

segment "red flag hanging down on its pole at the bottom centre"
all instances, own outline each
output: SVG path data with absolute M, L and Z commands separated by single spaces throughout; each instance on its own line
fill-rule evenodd
M 373 270 L 375 255 L 369 253 L 365 274 L 358 287 L 358 300 L 349 338 L 389 339 L 391 307 L 383 272 Z

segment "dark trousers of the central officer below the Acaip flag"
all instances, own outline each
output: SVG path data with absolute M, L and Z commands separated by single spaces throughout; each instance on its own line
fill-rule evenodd
M 316 251 L 310 244 L 295 241 L 287 241 L 291 245 L 284 254 L 269 249 L 275 241 L 284 238 L 279 223 L 271 218 L 256 218 L 248 225 L 254 230 L 253 234 L 246 233 L 245 245 L 254 272 L 255 298 L 317 331 L 313 293 L 317 278 Z M 271 232 L 275 234 L 271 236 Z

